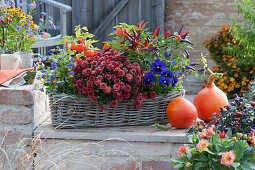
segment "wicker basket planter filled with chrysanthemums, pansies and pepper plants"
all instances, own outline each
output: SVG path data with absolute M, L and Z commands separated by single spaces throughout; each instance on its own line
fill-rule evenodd
M 113 33 L 117 38 L 102 50 L 93 48 L 96 41 L 85 27 L 75 28 L 75 38 L 64 37 L 61 43 L 66 43 L 66 49 L 38 77 L 44 79 L 50 92 L 54 125 L 102 127 L 168 122 L 167 104 L 173 97 L 184 95 L 182 81 L 188 72 L 195 72 L 198 63 L 190 63 L 187 51 L 185 55 L 172 54 L 174 49 L 192 44 L 186 39 L 188 33 L 181 34 L 180 30 L 160 35 L 157 29 L 152 36 L 145 25 L 117 26 Z M 65 109 L 60 111 L 60 105 Z

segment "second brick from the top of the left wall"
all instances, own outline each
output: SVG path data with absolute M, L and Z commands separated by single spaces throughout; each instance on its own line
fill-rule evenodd
M 33 121 L 32 114 L 32 108 L 0 110 L 0 122 L 5 124 L 28 124 Z

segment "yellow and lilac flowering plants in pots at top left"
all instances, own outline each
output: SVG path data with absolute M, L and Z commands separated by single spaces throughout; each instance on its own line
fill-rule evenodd
M 15 7 L 12 0 L 8 0 L 8 2 L 7 5 L 0 2 L 0 48 L 5 53 L 31 51 L 32 44 L 40 37 L 42 26 L 49 24 L 55 28 L 53 19 L 50 16 L 46 19 L 46 13 L 42 12 L 42 18 L 37 25 L 33 21 L 33 15 L 38 6 L 35 1 L 27 4 L 29 7 L 27 14 L 22 9 L 24 2 L 19 8 Z

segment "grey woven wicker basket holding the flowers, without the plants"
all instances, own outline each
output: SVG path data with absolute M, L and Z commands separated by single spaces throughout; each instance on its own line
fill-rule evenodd
M 88 98 L 50 94 L 52 124 L 58 128 L 82 128 L 167 123 L 166 107 L 169 101 L 184 94 L 184 91 L 180 91 L 146 99 L 139 110 L 131 102 L 122 102 L 104 112 Z

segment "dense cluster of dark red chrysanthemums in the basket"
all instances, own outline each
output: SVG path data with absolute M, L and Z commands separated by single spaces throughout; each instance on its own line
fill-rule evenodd
M 130 63 L 124 54 L 110 48 L 96 51 L 93 58 L 86 58 L 74 68 L 75 92 L 87 95 L 92 102 L 116 107 L 123 100 L 134 101 L 140 108 L 146 98 L 156 93 L 142 83 L 143 71 L 138 63 Z

